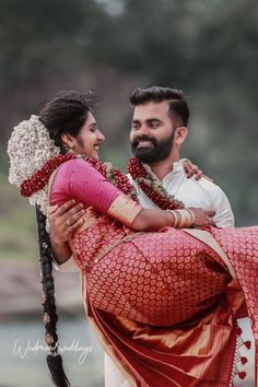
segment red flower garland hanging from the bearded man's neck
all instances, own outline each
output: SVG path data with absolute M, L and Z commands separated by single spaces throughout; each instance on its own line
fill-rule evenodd
M 130 159 L 127 165 L 133 180 L 139 185 L 142 191 L 162 210 L 176 210 L 185 208 L 184 203 L 173 195 L 169 195 L 165 188 L 155 181 L 146 173 L 143 165 L 136 157 Z

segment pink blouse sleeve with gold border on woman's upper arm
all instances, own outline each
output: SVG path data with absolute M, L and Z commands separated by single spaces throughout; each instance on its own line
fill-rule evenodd
M 60 195 L 63 198 L 63 194 L 67 200 L 73 198 L 84 202 L 129 226 L 141 210 L 90 163 L 80 159 L 66 162 L 58 171 L 51 197 Z

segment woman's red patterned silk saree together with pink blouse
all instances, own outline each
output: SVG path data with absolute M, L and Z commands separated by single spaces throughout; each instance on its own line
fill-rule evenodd
M 90 184 L 89 173 L 94 180 L 95 172 L 89 166 L 84 187 L 82 165 L 71 173 L 66 164 L 51 202 L 74 197 L 85 203 L 85 222 L 71 247 L 87 316 L 105 350 L 132 386 L 230 386 L 236 318 L 247 316 L 246 304 L 258 340 L 258 227 L 210 228 L 236 273 L 233 279 L 216 249 L 187 231 L 133 233 L 124 226 L 134 215 L 122 211 L 121 203 L 125 209 L 130 203 L 119 202 L 119 191 L 103 177 Z

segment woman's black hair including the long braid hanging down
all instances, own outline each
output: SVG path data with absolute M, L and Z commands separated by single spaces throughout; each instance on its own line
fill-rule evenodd
M 62 153 L 66 153 L 66 149 L 61 143 L 61 134 L 70 133 L 77 137 L 87 119 L 89 112 L 92 112 L 95 105 L 96 98 L 92 92 L 68 91 L 59 93 L 57 97 L 47 103 L 42 109 L 39 119 Z M 47 364 L 54 385 L 57 387 L 68 387 L 70 383 L 62 367 L 61 355 L 58 353 L 58 315 L 55 302 L 51 245 L 49 235 L 46 232 L 46 216 L 38 208 L 36 208 L 36 218 L 44 294 L 45 337 L 50 350 L 50 354 L 47 356 Z

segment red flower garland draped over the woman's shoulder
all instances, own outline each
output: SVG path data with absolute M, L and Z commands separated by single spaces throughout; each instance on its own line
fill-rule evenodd
M 98 160 L 86 157 L 85 155 L 75 155 L 73 153 L 59 154 L 48 160 L 31 178 L 22 183 L 20 187 L 21 195 L 24 197 L 31 197 L 37 191 L 44 189 L 56 168 L 58 168 L 62 163 L 77 157 L 85 160 L 124 194 L 129 195 L 133 200 L 137 200 L 136 189 L 120 169 L 113 167 L 110 163 L 103 163 Z

